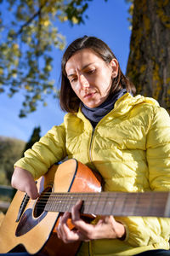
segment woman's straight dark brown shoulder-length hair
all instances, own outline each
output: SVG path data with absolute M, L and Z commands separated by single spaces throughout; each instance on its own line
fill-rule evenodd
M 66 112 L 77 112 L 80 105 L 80 99 L 72 90 L 65 72 L 66 62 L 80 49 L 93 49 L 94 53 L 99 55 L 106 63 L 110 63 L 114 58 L 116 59 L 109 46 L 99 38 L 84 36 L 83 38 L 77 38 L 68 46 L 61 62 L 61 88 L 59 94 L 60 107 Z M 126 88 L 128 92 L 136 92 L 135 86 L 122 73 L 119 66 L 118 74 L 112 81 L 110 95 L 123 88 Z

